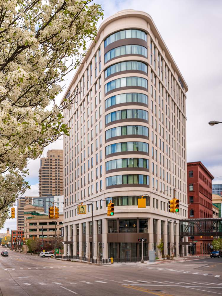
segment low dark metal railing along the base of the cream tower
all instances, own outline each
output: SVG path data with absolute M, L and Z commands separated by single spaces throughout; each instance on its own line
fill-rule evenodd
M 78 260 L 82 260 L 85 262 L 90 262 L 90 263 L 110 263 L 110 258 L 104 258 L 101 260 L 98 259 L 92 259 L 92 258 L 87 258 L 87 257 L 81 257 L 81 256 L 63 256 L 63 255 L 57 255 L 56 258 L 60 258 L 60 259 L 78 259 Z M 131 257 L 131 258 L 113 258 L 113 263 L 128 263 L 128 262 L 140 262 L 140 260 L 142 259 L 142 257 Z M 144 256 L 143 257 L 144 261 L 149 260 L 149 256 Z

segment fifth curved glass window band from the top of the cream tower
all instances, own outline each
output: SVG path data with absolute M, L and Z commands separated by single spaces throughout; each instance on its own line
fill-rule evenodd
M 138 93 L 128 93 L 128 94 L 118 94 L 116 96 L 111 96 L 109 99 L 105 100 L 105 108 L 111 107 L 116 104 L 138 102 L 148 105 L 148 96 L 145 94 Z

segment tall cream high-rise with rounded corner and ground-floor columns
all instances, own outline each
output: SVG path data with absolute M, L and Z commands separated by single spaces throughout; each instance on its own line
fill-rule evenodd
M 79 92 L 64 113 L 71 128 L 64 254 L 130 260 L 141 256 L 139 238 L 147 239 L 144 256 L 160 256 L 161 239 L 165 255 L 185 254 L 178 223 L 187 218 L 186 82 L 145 12 L 112 15 L 95 39 L 64 96 Z M 179 213 L 168 212 L 173 194 Z M 141 196 L 145 208 L 138 208 Z M 110 201 L 114 215 L 107 216 Z M 86 214 L 78 215 L 81 202 Z

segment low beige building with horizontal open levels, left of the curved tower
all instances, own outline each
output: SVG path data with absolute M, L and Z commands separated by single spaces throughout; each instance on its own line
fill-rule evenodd
M 44 207 L 26 205 L 24 220 L 25 239 L 43 237 L 44 242 L 50 243 L 55 234 L 57 237 L 61 236 L 63 215 L 59 215 L 59 219 L 49 219 L 49 215 L 44 212 Z

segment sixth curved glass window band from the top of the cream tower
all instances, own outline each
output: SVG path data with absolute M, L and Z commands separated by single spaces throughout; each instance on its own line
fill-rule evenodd
M 148 120 L 148 112 L 141 109 L 127 109 L 111 112 L 105 116 L 105 123 L 126 118 L 138 118 Z

